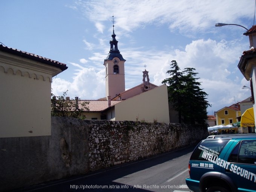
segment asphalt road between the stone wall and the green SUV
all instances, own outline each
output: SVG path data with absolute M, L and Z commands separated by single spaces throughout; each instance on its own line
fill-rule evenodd
M 40 184 L 22 192 L 188 192 L 188 162 L 195 146 L 88 175 Z M 15 191 L 17 192 L 17 190 Z

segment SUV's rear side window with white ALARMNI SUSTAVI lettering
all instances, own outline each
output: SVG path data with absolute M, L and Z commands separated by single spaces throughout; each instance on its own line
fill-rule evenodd
M 218 157 L 224 146 L 229 142 L 229 140 L 230 139 L 204 140 L 194 150 L 193 154 L 190 157 L 190 160 L 207 161 L 205 158 L 202 157 L 204 151 Z

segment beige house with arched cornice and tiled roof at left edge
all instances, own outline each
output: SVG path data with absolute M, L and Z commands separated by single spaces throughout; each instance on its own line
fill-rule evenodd
M 66 64 L 0 44 L 0 137 L 51 135 L 52 77 Z

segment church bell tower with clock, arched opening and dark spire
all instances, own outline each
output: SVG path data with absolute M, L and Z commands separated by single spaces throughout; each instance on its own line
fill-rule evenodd
M 114 16 L 112 16 L 113 34 L 110 41 L 110 51 L 104 60 L 105 66 L 105 82 L 106 82 L 106 98 L 114 98 L 119 93 L 125 91 L 125 59 L 120 54 L 117 47 L 118 41 L 114 33 Z

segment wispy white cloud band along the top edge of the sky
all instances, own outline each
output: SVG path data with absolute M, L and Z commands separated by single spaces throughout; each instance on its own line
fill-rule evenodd
M 98 25 L 97 28 L 101 32 L 103 27 L 98 23 L 104 20 L 110 21 L 113 10 L 115 10 L 116 26 L 126 31 L 132 31 L 146 24 L 168 23 L 171 30 L 178 29 L 183 34 L 205 30 L 218 22 L 240 23 L 241 18 L 253 18 L 254 13 L 254 3 L 251 0 L 194 0 L 193 3 L 188 3 L 187 0 L 162 0 L 161 3 L 154 0 L 122 0 L 114 3 L 112 1 L 77 3 L 84 9 L 85 15 Z M 111 9 L 105 9 L 108 7 Z

